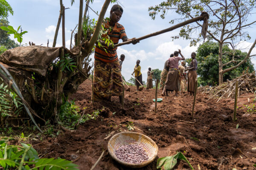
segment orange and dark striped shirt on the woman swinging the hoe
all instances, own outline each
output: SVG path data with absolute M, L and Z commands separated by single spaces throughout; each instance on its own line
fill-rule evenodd
M 118 44 L 119 39 L 122 39 L 123 37 L 127 37 L 125 33 L 125 28 L 119 24 L 116 23 L 114 27 L 109 26 L 109 22 L 104 24 L 104 28 L 108 29 L 108 33 L 105 35 L 102 35 L 102 37 L 107 37 L 107 35 L 110 37 L 110 40 L 113 41 L 114 44 Z M 109 29 L 110 28 L 110 29 Z M 106 49 L 106 51 L 104 50 Z M 96 46 L 95 52 L 94 52 L 94 58 L 98 59 L 103 62 L 115 62 L 118 60 L 117 54 L 116 54 L 116 48 L 108 49 L 108 47 L 98 47 Z

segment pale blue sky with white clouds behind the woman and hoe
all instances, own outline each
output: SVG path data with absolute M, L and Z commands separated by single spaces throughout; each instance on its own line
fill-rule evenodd
M 21 25 L 23 30 L 28 31 L 23 35 L 23 44 L 28 44 L 29 41 L 32 41 L 36 45 L 43 44 L 47 46 L 47 40 L 49 39 L 49 46 L 52 46 L 60 9 L 59 0 L 8 0 L 8 2 L 14 11 L 14 15 L 10 15 L 8 18 L 10 25 L 14 28 Z M 160 16 L 157 16 L 155 20 L 151 20 L 148 15 L 148 7 L 161 2 L 161 0 L 119 0 L 124 9 L 119 23 L 125 27 L 129 38 L 142 37 L 172 26 L 169 24 L 169 20 L 177 18 L 177 15 L 172 14 L 170 11 L 165 20 L 162 20 Z M 94 11 L 100 12 L 103 3 L 103 0 L 94 0 L 93 4 L 90 3 L 89 6 Z M 71 6 L 70 0 L 63 0 L 63 4 L 65 8 L 70 8 L 65 10 L 66 47 L 69 48 L 70 30 L 73 30 L 78 23 L 79 0 L 75 0 L 73 6 Z M 105 17 L 109 17 L 111 6 L 113 4 L 110 4 Z M 89 16 L 96 20 L 98 18 L 90 9 Z M 252 30 L 250 31 L 252 39 L 244 42 L 241 45 L 243 48 L 248 47 L 256 38 L 256 32 L 253 29 L 250 30 Z M 173 51 L 180 49 L 184 57 L 189 58 L 191 52 L 196 51 L 197 47 L 189 47 L 189 41 L 183 39 L 172 41 L 171 37 L 177 35 L 178 32 L 179 29 L 176 29 L 172 32 L 142 40 L 137 45 L 131 44 L 119 47 L 117 49 L 118 55 L 125 54 L 125 61 L 122 66 L 122 74 L 125 79 L 130 79 L 137 59 L 141 60 L 143 80 L 146 80 L 148 67 L 162 70 L 164 62 Z M 11 35 L 11 38 L 13 39 L 13 35 Z M 61 31 L 59 31 L 56 46 L 61 45 Z M 243 49 L 242 51 L 248 51 L 248 49 Z M 252 54 L 256 54 L 256 48 L 253 49 Z M 256 68 L 256 58 L 253 58 L 252 61 L 254 68 Z

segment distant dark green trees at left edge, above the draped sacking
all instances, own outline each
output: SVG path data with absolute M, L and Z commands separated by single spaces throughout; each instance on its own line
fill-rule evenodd
M 9 22 L 7 20 L 1 19 L 0 20 L 0 27 L 9 26 Z M 7 34 L 8 31 L 4 31 L 3 29 L 0 29 L 0 45 L 5 46 L 7 49 L 15 48 L 19 46 L 14 40 L 10 39 L 10 34 Z

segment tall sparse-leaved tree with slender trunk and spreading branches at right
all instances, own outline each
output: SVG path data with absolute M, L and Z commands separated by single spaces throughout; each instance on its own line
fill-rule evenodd
M 174 24 L 176 21 L 188 20 L 190 18 L 198 17 L 202 11 L 209 14 L 207 40 L 215 40 L 219 43 L 218 54 L 218 77 L 219 84 L 224 80 L 224 74 L 232 71 L 243 65 L 244 62 L 251 57 L 250 53 L 256 44 L 256 39 L 253 42 L 247 57 L 240 62 L 233 62 L 233 65 L 223 64 L 225 59 L 222 58 L 222 48 L 226 44 L 230 44 L 234 51 L 236 45 L 241 40 L 250 39 L 247 32 L 248 27 L 256 23 L 256 20 L 249 20 L 253 18 L 256 13 L 256 0 L 164 0 L 156 6 L 148 8 L 149 15 L 155 19 L 156 15 L 160 13 L 161 18 L 165 18 L 167 11 L 176 12 L 179 16 L 177 18 L 171 17 L 169 23 Z M 203 39 L 201 35 L 202 22 L 195 22 L 180 29 L 178 35 L 173 36 L 173 39 L 183 38 L 190 40 L 190 45 L 196 45 L 197 42 Z M 236 65 L 234 65 L 236 63 Z

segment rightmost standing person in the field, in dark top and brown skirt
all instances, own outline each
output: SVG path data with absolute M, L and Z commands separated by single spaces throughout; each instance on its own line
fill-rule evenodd
M 195 52 L 191 53 L 191 58 L 192 61 L 189 65 L 189 68 L 185 69 L 185 71 L 189 71 L 188 73 L 188 92 L 190 93 L 190 95 L 194 96 L 194 92 L 195 92 L 195 80 L 197 79 L 197 60 L 195 59 Z

